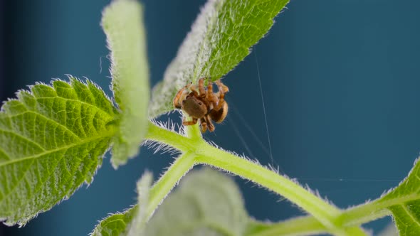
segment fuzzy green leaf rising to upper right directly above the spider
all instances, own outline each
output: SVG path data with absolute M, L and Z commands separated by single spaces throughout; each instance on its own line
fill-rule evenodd
M 273 25 L 288 0 L 209 0 L 196 18 L 177 57 L 152 92 L 149 114 L 173 109 L 172 99 L 188 82 L 215 81 L 250 53 L 249 48 Z

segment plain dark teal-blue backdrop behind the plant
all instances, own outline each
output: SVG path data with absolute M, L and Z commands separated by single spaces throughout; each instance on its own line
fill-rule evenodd
M 1 100 L 65 74 L 88 77 L 110 92 L 99 25 L 108 2 L 1 2 Z M 204 1 L 143 2 L 154 85 Z M 206 139 L 271 163 L 258 68 L 280 171 L 341 208 L 379 197 L 406 176 L 420 151 L 419 8 L 414 0 L 293 0 L 225 77 L 231 111 Z M 135 181 L 145 169 L 159 176 L 171 161 L 142 149 L 115 171 L 107 155 L 88 188 L 26 227 L 0 227 L 0 235 L 88 235 L 108 213 L 135 203 Z M 248 212 L 259 220 L 303 215 L 278 195 L 238 183 Z M 387 222 L 366 226 L 377 232 Z

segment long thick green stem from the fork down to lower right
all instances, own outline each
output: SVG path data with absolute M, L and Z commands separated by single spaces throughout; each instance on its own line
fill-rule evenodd
M 291 202 L 303 208 L 305 211 L 315 216 L 322 225 L 327 227 L 328 231 L 334 235 L 365 235 L 358 228 L 344 229 L 338 217 L 341 211 L 334 206 L 326 203 L 318 198 L 310 191 L 291 181 L 284 176 L 280 176 L 274 171 L 268 170 L 263 166 L 253 163 L 247 159 L 230 154 L 229 152 L 217 149 L 214 146 L 201 142 L 196 148 L 196 161 L 199 163 L 209 164 L 217 168 L 222 168 L 238 176 L 246 178 L 254 183 L 278 193 Z

